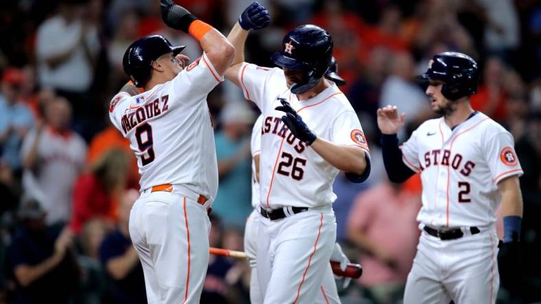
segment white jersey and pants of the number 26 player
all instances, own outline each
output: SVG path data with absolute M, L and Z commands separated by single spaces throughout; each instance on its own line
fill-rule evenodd
M 264 117 L 260 206 L 281 208 L 286 214 L 275 221 L 259 218 L 257 278 L 264 303 L 314 303 L 318 294 L 328 298 L 321 283 L 325 273 L 332 275 L 329 259 L 336 241 L 332 183 L 338 169 L 297 140 L 280 120 L 284 112 L 275 107 L 284 98 L 320 138 L 368 152 L 356 113 L 335 84 L 299 101 L 280 68 L 243 64 L 238 78 L 244 96 L 260 107 Z M 294 214 L 291 207 L 309 209 Z

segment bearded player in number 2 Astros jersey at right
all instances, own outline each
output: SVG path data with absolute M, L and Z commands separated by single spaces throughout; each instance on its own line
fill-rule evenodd
M 500 279 L 494 212 L 501 202 L 503 247 L 511 251 L 518 248 L 522 217 L 522 169 L 514 140 L 472 109 L 479 68 L 468 55 L 435 55 L 421 77 L 428 80 L 426 94 L 441 118 L 424 122 L 402 147 L 396 134 L 405 114 L 398 115 L 394 106 L 378 109 L 389 179 L 402 182 L 420 173 L 423 185 L 417 216 L 423 233 L 404 303 L 495 303 Z

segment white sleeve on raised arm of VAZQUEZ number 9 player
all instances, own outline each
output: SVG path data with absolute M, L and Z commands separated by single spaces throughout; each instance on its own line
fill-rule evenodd
M 206 99 L 207 94 L 222 81 L 224 77 L 218 74 L 207 57 L 207 53 L 203 52 L 200 58 L 174 77 L 172 80 L 174 95 L 170 94 L 169 103 L 171 106 L 180 103 L 197 103 Z

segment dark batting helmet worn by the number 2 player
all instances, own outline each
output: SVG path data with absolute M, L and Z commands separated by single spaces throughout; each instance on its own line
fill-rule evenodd
M 439 53 L 430 60 L 422 79 L 444 81 L 441 94 L 450 100 L 470 96 L 477 92 L 479 68 L 470 56 L 457 52 Z

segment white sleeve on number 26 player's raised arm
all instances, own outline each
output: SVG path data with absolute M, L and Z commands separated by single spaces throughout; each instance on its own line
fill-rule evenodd
M 286 77 L 279 68 L 264 68 L 244 62 L 238 73 L 242 93 L 246 99 L 263 106 L 266 92 L 281 92 L 286 89 Z

